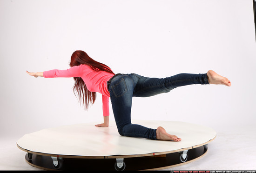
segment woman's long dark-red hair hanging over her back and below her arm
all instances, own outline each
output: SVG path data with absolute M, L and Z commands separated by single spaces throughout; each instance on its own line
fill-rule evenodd
M 108 73 L 115 74 L 105 64 L 102 64 L 100 62 L 93 60 L 91 57 L 88 56 L 87 53 L 85 53 L 84 51 L 78 50 L 72 54 L 69 66 L 73 67 L 73 66 L 79 66 L 81 64 L 88 65 L 95 71 L 105 71 Z M 81 77 L 74 77 L 73 90 L 74 90 L 75 96 L 77 97 L 78 95 L 79 101 L 80 103 L 83 103 L 83 106 L 85 109 L 88 109 L 88 106 L 90 104 L 94 104 L 94 101 L 96 100 L 96 93 L 90 92 L 87 89 Z

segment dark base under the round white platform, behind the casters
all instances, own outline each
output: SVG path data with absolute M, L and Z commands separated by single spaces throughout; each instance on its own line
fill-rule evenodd
M 186 162 L 180 160 L 179 152 L 146 157 L 124 158 L 124 170 L 159 170 L 180 166 L 201 158 L 207 153 L 207 149 L 208 148 L 204 146 L 190 149 L 187 153 Z M 44 170 L 116 170 L 116 159 L 62 158 L 61 167 L 57 169 L 54 167 L 53 159 L 50 156 L 33 154 L 32 158 L 29 159 L 28 154 L 26 154 L 25 159 L 29 165 Z

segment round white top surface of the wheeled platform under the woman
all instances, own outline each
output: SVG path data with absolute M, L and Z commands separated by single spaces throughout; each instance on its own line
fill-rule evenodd
M 133 120 L 132 123 L 149 128 L 162 126 L 168 133 L 177 135 L 182 141 L 120 136 L 115 122 L 110 122 L 109 127 L 95 127 L 94 123 L 81 123 L 43 129 L 25 134 L 17 141 L 17 145 L 31 152 L 69 156 L 138 155 L 196 147 L 216 137 L 216 132 L 212 128 L 186 122 Z

